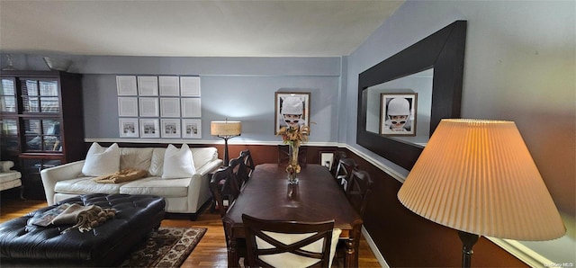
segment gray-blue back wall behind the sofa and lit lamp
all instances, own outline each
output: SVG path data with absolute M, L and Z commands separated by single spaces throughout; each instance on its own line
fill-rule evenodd
M 85 75 L 88 139 L 120 138 L 116 75 L 193 75 L 201 77 L 202 139 L 185 142 L 220 142 L 210 135 L 210 121 L 228 118 L 242 121 L 243 129 L 230 143 L 280 143 L 275 92 L 310 92 L 311 143 L 338 141 L 340 58 L 60 57 L 74 61 L 70 71 Z M 39 55 L 13 55 L 13 61 L 18 69 L 47 69 Z

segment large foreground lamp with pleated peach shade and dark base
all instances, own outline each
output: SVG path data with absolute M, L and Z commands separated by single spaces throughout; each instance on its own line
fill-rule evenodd
M 463 267 L 470 267 L 480 236 L 540 241 L 566 232 L 512 121 L 440 121 L 398 199 L 458 230 Z

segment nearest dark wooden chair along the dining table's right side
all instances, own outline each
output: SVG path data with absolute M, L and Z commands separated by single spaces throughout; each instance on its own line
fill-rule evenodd
M 372 178 L 365 170 L 353 170 L 347 186 L 347 199 L 352 204 L 360 218 L 364 219 L 364 212 L 368 196 L 372 192 Z

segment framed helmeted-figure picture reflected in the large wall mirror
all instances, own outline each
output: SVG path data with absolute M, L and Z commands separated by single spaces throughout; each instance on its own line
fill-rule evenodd
M 416 136 L 418 94 L 380 94 L 380 134 L 383 136 Z

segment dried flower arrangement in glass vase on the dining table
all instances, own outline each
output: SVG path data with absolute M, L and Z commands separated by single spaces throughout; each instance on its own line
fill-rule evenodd
M 290 161 L 286 166 L 286 173 L 288 173 L 288 183 L 298 184 L 296 174 L 300 173 L 300 165 L 298 165 L 298 148 L 303 142 L 308 141 L 308 126 L 301 126 L 300 128 L 283 127 L 278 131 L 284 141 L 290 147 Z

